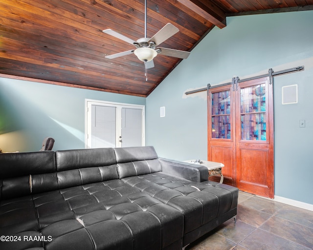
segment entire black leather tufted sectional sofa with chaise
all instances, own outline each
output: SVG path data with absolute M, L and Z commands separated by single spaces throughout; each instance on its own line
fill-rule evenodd
M 207 179 L 152 146 L 0 154 L 0 249 L 181 250 L 237 213 Z

